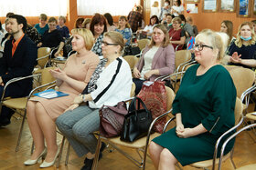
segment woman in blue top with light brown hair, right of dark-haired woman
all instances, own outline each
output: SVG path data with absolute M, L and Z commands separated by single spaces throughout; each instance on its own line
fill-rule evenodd
M 125 16 L 119 17 L 118 27 L 114 31 L 117 31 L 123 35 L 125 45 L 131 44 L 133 32 Z

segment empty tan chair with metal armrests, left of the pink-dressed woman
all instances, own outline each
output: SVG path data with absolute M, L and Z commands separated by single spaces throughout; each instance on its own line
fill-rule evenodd
M 4 86 L 4 92 L 3 92 L 3 95 L 2 95 L 2 98 L 1 98 L 1 104 L 0 104 L 1 109 L 2 109 L 2 106 L 5 105 L 6 107 L 14 110 L 16 112 L 16 114 L 23 117 L 21 127 L 20 127 L 20 132 L 19 132 L 19 135 L 18 135 L 17 143 L 16 143 L 16 152 L 18 151 L 18 147 L 19 147 L 19 144 L 20 144 L 21 135 L 22 135 L 22 131 L 23 131 L 23 126 L 24 126 L 24 123 L 25 123 L 26 115 L 27 115 L 27 101 L 29 100 L 31 95 L 33 95 L 34 93 L 37 93 L 41 89 L 44 89 L 44 87 L 46 87 L 47 85 L 53 85 L 55 83 L 54 82 L 55 79 L 51 75 L 49 76 L 48 69 L 50 69 L 50 67 L 43 69 L 41 74 L 14 78 L 12 80 L 9 80 Z M 29 95 L 27 95 L 25 97 L 19 97 L 19 98 L 4 97 L 5 96 L 5 90 L 6 90 L 6 87 L 8 85 L 11 85 L 11 84 L 13 84 L 17 81 L 20 81 L 20 80 L 24 80 L 24 79 L 32 78 L 32 77 L 38 77 L 38 76 L 41 76 L 42 84 L 35 87 L 30 92 Z

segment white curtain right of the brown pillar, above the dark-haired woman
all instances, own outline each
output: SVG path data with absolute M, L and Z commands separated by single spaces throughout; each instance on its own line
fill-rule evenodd
M 77 0 L 78 15 L 128 15 L 139 0 Z

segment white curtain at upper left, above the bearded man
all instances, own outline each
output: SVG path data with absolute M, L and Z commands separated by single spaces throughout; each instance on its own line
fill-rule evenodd
M 68 0 L 0 0 L 0 16 L 9 12 L 24 16 L 67 15 Z

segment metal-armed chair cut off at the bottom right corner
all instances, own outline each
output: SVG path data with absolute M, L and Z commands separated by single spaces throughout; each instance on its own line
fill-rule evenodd
M 249 129 L 249 128 L 253 128 L 255 127 L 256 124 L 252 124 L 252 125 L 247 125 L 247 126 L 244 126 L 243 128 L 241 128 L 239 131 L 237 131 L 235 134 L 229 136 L 228 139 L 226 139 L 226 141 L 223 143 L 222 147 L 221 147 L 221 151 L 220 151 L 220 156 L 219 156 L 219 167 L 218 167 L 218 170 L 221 170 L 221 165 L 222 165 L 222 161 L 223 161 L 223 153 L 225 151 L 225 147 L 226 145 L 229 143 L 229 141 L 231 139 L 233 139 L 235 136 L 239 135 L 241 132 Z M 256 169 L 256 164 L 251 164 L 251 165 L 244 165 L 244 166 L 241 166 L 240 168 L 236 168 L 236 170 L 255 170 Z M 214 169 L 213 169 L 214 170 Z

